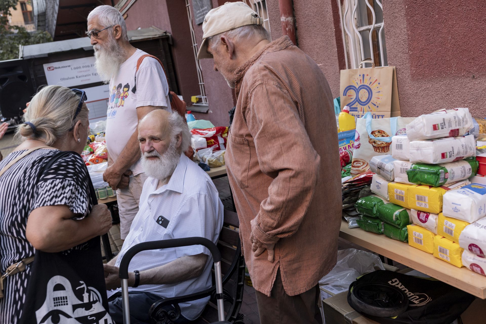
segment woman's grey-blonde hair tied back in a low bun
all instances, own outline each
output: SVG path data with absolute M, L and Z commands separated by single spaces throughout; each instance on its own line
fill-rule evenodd
M 34 129 L 28 124 L 20 124 L 16 136 L 22 140 L 42 139 L 46 145 L 54 144 L 59 138 L 66 136 L 71 127 L 81 120 L 88 120 L 88 109 L 83 102 L 81 111 L 73 121 L 78 108 L 80 97 L 71 89 L 60 85 L 47 85 L 32 98 L 23 121 L 31 122 Z

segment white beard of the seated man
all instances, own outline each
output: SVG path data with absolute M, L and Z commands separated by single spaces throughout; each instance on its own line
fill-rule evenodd
M 175 143 L 176 140 L 172 140 L 169 148 L 163 154 L 159 154 L 155 150 L 141 154 L 141 164 L 146 175 L 164 181 L 174 173 L 180 159 L 180 153 L 177 152 Z M 158 156 L 158 159 L 149 160 L 147 159 L 148 156 Z

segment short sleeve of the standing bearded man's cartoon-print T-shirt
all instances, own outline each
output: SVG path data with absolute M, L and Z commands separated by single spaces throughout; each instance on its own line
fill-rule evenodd
M 155 58 L 146 57 L 137 71 L 137 104 L 141 106 L 169 107 L 169 85 L 163 68 Z

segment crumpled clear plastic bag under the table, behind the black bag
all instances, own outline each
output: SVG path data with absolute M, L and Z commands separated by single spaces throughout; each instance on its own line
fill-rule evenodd
M 339 285 L 349 288 L 357 277 L 375 271 L 375 267 L 384 270 L 380 257 L 372 253 L 346 249 L 337 252 L 337 263 L 332 270 L 319 280 L 319 284 Z

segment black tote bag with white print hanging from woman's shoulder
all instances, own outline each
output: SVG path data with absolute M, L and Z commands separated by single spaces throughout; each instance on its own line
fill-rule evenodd
M 74 152 L 55 154 L 46 164 Z M 42 173 L 42 172 L 41 172 Z M 91 202 L 98 203 L 91 179 Z M 108 313 L 100 237 L 57 253 L 35 251 L 20 324 L 113 324 Z

